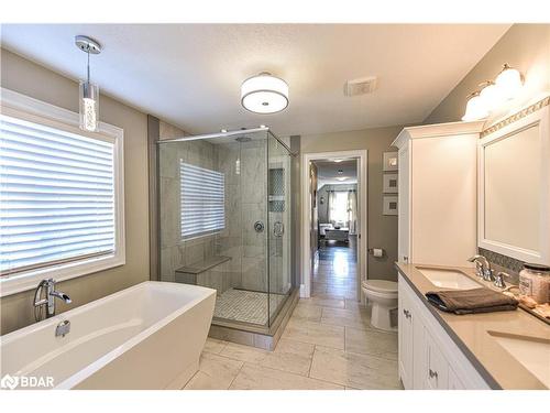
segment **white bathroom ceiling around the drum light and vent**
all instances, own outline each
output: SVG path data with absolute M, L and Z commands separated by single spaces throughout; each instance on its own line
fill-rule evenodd
M 3 24 L 2 46 L 72 78 L 84 76 L 76 34 L 100 90 L 190 133 L 267 124 L 280 135 L 417 123 L 509 24 Z M 254 115 L 241 83 L 268 70 L 290 88 L 288 109 Z M 348 79 L 378 89 L 344 97 Z

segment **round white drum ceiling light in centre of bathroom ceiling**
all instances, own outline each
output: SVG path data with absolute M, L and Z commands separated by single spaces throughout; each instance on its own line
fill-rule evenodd
M 254 113 L 275 113 L 288 106 L 288 85 L 263 72 L 243 81 L 241 105 Z

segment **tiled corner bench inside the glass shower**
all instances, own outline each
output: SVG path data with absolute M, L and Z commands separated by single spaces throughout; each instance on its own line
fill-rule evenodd
M 216 289 L 218 295 L 222 294 L 230 287 L 230 272 L 227 268 L 229 261 L 231 261 L 231 257 L 209 257 L 205 260 L 177 269 L 175 280 L 183 284 L 202 285 Z

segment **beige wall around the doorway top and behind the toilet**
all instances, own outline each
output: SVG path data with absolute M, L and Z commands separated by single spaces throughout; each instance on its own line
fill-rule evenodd
M 382 153 L 391 148 L 402 127 L 365 129 L 349 132 L 301 135 L 301 153 L 369 150 L 369 247 L 384 248 L 387 256 L 369 256 L 369 278 L 396 280 L 397 216 L 382 215 Z

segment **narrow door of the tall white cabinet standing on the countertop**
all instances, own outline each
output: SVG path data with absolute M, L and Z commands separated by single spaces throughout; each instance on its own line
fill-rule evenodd
M 398 203 L 398 246 L 397 246 L 397 261 L 410 262 L 409 253 L 409 228 L 410 228 L 410 143 L 405 144 L 398 152 L 399 174 L 397 177 L 397 186 L 399 196 Z

